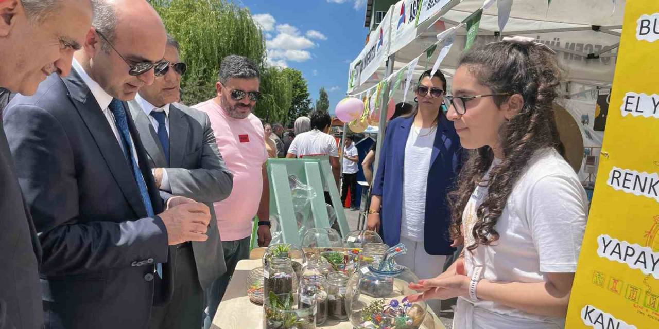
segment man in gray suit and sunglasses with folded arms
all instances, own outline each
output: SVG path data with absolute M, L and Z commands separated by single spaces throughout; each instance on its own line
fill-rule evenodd
M 153 168 L 156 186 L 164 195 L 183 195 L 212 203 L 226 199 L 233 188 L 229 171 L 215 143 L 208 114 L 179 101 L 186 64 L 179 60 L 179 43 L 167 36 L 167 72 L 140 89 L 129 102 L 130 114 Z M 204 290 L 226 272 L 217 220 L 211 207 L 208 240 L 169 247 L 173 273 L 172 299 L 154 307 L 150 328 L 201 328 Z

